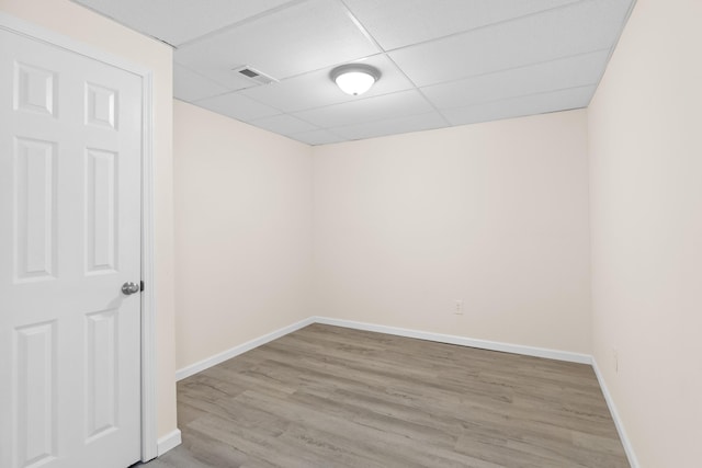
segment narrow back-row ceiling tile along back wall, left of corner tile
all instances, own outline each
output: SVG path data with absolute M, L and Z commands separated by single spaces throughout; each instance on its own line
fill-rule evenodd
M 335 127 L 331 130 L 350 140 L 374 138 L 384 135 L 405 134 L 409 132 L 429 130 L 446 126 L 446 119 L 438 112 L 410 115 L 407 117 L 375 121 L 344 127 Z

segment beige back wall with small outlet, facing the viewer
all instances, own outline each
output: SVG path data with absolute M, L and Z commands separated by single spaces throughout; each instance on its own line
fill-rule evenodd
M 589 354 L 586 130 L 573 111 L 315 147 L 316 313 Z

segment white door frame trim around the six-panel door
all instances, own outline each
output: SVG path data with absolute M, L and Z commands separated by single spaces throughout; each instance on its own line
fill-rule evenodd
M 0 11 L 0 28 L 60 47 L 141 78 L 141 460 L 158 455 L 156 401 L 156 303 L 154 261 L 152 71 L 88 44 Z

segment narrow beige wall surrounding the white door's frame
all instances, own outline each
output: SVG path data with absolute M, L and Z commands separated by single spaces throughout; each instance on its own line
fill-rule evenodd
M 0 11 L 154 72 L 158 434 L 176 429 L 172 229 L 172 50 L 68 0 L 0 0 Z

